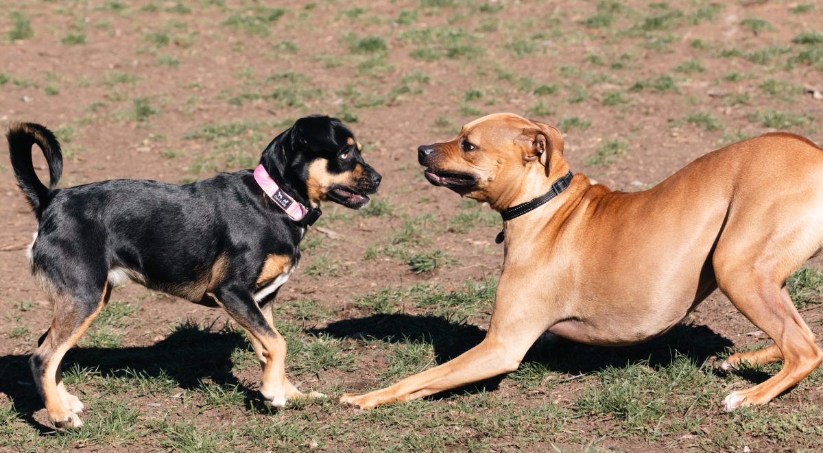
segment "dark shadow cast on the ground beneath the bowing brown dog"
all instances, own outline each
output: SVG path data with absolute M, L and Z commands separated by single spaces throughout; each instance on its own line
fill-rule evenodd
M 463 354 L 486 336 L 486 331 L 463 322 L 406 314 L 379 314 L 336 321 L 314 333 L 338 338 L 374 338 L 389 343 L 425 341 L 434 347 L 437 363 L 445 363 Z M 589 346 L 551 335 L 548 339 L 538 340 L 523 358 L 523 363 L 542 363 L 549 371 L 576 376 L 641 362 L 651 367 L 665 367 L 678 357 L 690 358 L 700 364 L 723 355 L 731 346 L 731 340 L 707 326 L 678 324 L 656 339 L 625 347 Z M 741 376 L 756 382 L 768 377 L 763 372 L 746 372 Z M 503 377 L 494 377 L 444 392 L 435 398 L 463 392 L 492 391 L 502 380 Z

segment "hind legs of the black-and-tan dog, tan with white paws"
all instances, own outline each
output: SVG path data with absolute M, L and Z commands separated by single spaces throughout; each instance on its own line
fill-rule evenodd
M 52 325 L 43 343 L 29 359 L 37 391 L 43 398 L 49 418 L 58 428 L 83 426 L 77 416 L 83 409 L 83 404 L 77 396 L 66 391 L 60 372 L 67 351 L 77 344 L 91 321 L 94 321 L 108 302 L 111 294 L 109 284 L 105 283 L 100 292 L 102 294 L 93 302 L 90 298 L 85 298 L 88 299 L 86 302 L 80 302 L 81 298 L 75 296 L 53 294 Z

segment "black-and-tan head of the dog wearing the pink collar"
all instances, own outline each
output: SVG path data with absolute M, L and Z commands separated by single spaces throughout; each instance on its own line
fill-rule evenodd
M 295 198 L 312 206 L 334 201 L 360 209 L 377 192 L 380 174 L 360 155 L 362 146 L 337 118 L 300 118 L 263 151 L 260 163 Z

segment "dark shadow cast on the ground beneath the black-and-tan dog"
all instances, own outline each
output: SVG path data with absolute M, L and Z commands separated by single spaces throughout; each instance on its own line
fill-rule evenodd
M 267 406 L 258 391 L 238 381 L 232 373 L 232 352 L 248 347 L 248 340 L 239 331 L 186 322 L 151 346 L 73 348 L 63 360 L 63 377 L 72 368 L 80 367 L 94 370 L 102 377 L 164 377 L 186 390 L 198 388 L 203 380 L 211 380 L 218 385 L 237 386 L 244 394 L 247 408 L 263 409 Z M 29 354 L 0 356 L 0 393 L 11 398 L 22 420 L 40 432 L 52 432 L 53 428 L 33 417 L 43 409 L 43 402 L 31 379 L 29 357 Z

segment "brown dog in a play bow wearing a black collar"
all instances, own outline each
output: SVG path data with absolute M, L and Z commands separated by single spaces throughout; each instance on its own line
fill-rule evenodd
M 811 141 L 785 133 L 742 141 L 634 193 L 583 174 L 565 188 L 560 132 L 512 113 L 477 119 L 419 152 L 431 183 L 486 201 L 504 218 L 533 204 L 513 206 L 556 197 L 504 221 L 503 275 L 481 344 L 342 402 L 369 408 L 513 372 L 545 331 L 585 344 L 649 340 L 717 288 L 774 340 L 721 367 L 784 361 L 768 381 L 728 395 L 725 409 L 765 404 L 823 362 L 785 284 L 823 246 L 823 150 Z

